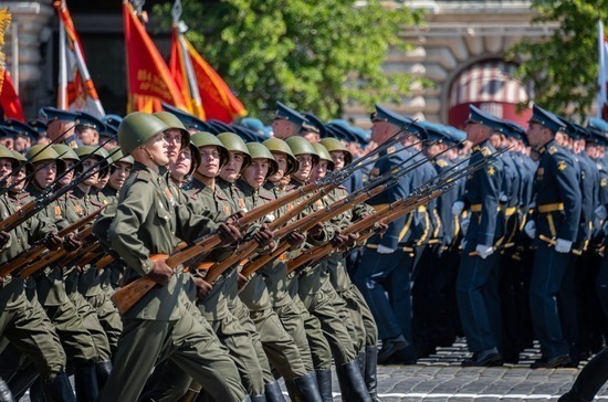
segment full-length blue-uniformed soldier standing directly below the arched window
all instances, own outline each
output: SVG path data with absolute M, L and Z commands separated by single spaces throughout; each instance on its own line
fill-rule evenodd
M 490 142 L 500 121 L 474 106 L 467 120 L 467 138 L 473 144 L 470 163 L 481 162 L 496 150 Z M 503 178 L 501 159 L 493 159 L 483 169 L 468 177 L 465 193 L 454 202 L 452 214 L 471 211 L 457 278 L 457 300 L 473 357 L 464 367 L 502 364 L 499 353 L 501 311 L 499 299 L 499 267 L 494 244 L 501 239 L 502 228 L 496 214 Z

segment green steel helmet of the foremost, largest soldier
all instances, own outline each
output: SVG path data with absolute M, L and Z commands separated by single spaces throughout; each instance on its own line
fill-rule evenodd
M 123 154 L 127 155 L 167 128 L 169 127 L 165 121 L 149 113 L 133 112 L 125 116 L 118 126 L 118 144 Z

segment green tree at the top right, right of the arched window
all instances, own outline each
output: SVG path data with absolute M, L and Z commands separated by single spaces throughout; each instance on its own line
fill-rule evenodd
M 534 0 L 532 7 L 539 12 L 535 23 L 559 27 L 542 41 L 511 49 L 511 57 L 523 60 L 518 76 L 534 83 L 536 104 L 557 113 L 574 106 L 585 116 L 597 95 L 597 21 L 607 24 L 608 0 Z

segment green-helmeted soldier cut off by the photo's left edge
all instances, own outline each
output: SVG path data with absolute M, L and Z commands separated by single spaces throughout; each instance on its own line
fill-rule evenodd
M 19 165 L 21 163 L 17 156 L 6 147 L 0 147 L 0 180 L 8 179 L 11 170 Z M 6 193 L 0 197 L 2 219 L 15 212 L 18 208 L 19 205 Z M 0 263 L 4 264 L 15 257 L 34 240 L 46 239 L 46 246 L 53 250 L 61 246 L 62 241 L 55 235 L 55 230 L 51 222 L 32 216 L 25 224 L 10 232 L 0 232 Z M 27 297 L 24 279 L 20 276 L 0 277 L 0 335 L 10 343 L 3 350 L 2 357 L 23 353 L 30 358 L 34 371 L 40 374 L 44 395 L 49 401 L 75 401 L 64 371 L 66 356 L 56 331 L 39 302 L 34 297 Z M 14 366 L 12 371 L 11 374 L 14 374 Z M 27 381 L 30 382 L 31 380 Z M 2 401 L 13 401 L 11 391 L 1 379 L 0 398 Z

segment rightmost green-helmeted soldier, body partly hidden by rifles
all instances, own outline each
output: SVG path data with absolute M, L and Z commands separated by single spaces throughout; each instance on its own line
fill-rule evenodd
M 337 138 L 324 138 L 321 140 L 334 162 L 335 169 L 343 169 L 345 166 L 353 161 L 353 156 L 344 144 Z M 333 200 L 338 200 L 348 194 L 348 191 L 344 187 L 335 189 L 329 197 Z M 350 222 L 356 221 L 365 215 L 373 213 L 371 207 L 367 204 L 359 204 L 353 208 L 353 213 L 345 215 L 343 225 L 348 225 Z M 352 219 L 348 220 L 348 216 Z M 384 224 L 380 225 L 380 230 L 384 229 Z M 374 315 L 369 310 L 365 298 L 360 294 L 359 289 L 353 284 L 348 273 L 346 272 L 346 262 L 342 252 L 335 252 L 326 258 L 327 269 L 332 285 L 336 289 L 338 296 L 346 303 L 347 309 L 350 314 L 353 324 L 355 325 L 355 334 L 357 335 L 359 346 L 363 343 L 365 350 L 359 349 L 359 358 L 364 363 L 364 378 L 366 387 L 369 391 L 369 395 L 373 401 L 378 400 L 377 392 L 377 357 L 378 357 L 378 330 Z

